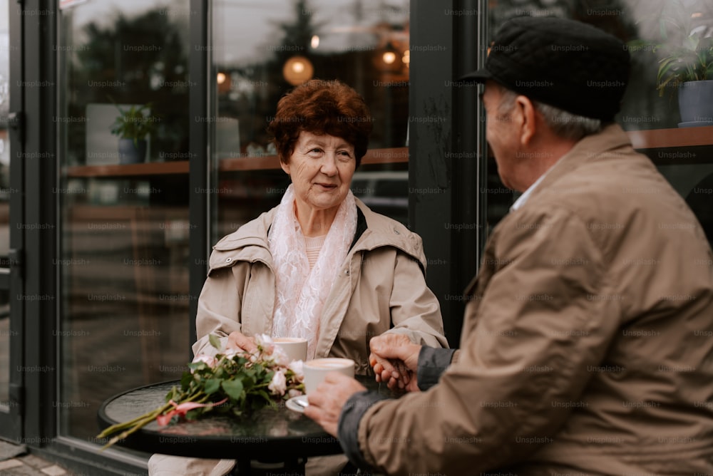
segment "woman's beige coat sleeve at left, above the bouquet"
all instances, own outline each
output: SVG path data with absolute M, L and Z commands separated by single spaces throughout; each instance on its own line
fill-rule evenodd
M 198 297 L 198 311 L 195 316 L 198 340 L 193 344 L 194 356 L 199 353 L 214 356 L 217 353 L 217 349 L 208 341 L 211 333 L 220 337 L 222 345 L 225 346 L 227 336 L 231 332 L 242 331 L 242 291 L 247 281 L 241 278 L 241 269 L 244 266 L 247 264 L 210 269 Z

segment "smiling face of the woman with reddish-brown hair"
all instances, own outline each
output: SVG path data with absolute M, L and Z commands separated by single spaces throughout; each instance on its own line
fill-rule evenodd
M 292 178 L 298 212 L 336 213 L 352 184 L 356 157 L 346 140 L 303 130 L 289 160 L 280 165 Z

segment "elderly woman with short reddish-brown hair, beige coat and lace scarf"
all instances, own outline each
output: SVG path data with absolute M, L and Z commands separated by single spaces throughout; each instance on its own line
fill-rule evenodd
M 351 358 L 366 375 L 369 339 L 384 332 L 446 347 L 421 238 L 349 189 L 371 133 L 361 96 L 339 81 L 309 81 L 279 100 L 268 130 L 292 184 L 277 207 L 215 244 L 193 352 L 215 351 L 211 333 L 245 350 L 258 333 L 303 337 L 308 359 Z M 182 474 L 222 474 L 211 469 L 181 465 Z

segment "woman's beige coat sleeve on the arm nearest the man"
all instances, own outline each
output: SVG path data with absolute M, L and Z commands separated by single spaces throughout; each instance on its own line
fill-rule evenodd
M 389 332 L 424 346 L 448 348 L 438 298 L 426 285 L 421 264 L 403 252 L 396 254 L 389 306 L 393 324 Z

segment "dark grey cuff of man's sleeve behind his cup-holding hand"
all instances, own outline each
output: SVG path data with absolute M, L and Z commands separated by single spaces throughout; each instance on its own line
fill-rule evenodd
M 369 410 L 371 405 L 381 400 L 388 400 L 388 397 L 366 390 L 354 393 L 344 404 L 342 413 L 339 414 L 339 425 L 337 427 L 339 444 L 342 445 L 342 450 L 344 450 L 344 454 L 347 455 L 349 461 L 361 470 L 371 471 L 371 465 L 366 462 L 364 453 L 359 448 L 359 423 L 366 410 Z

